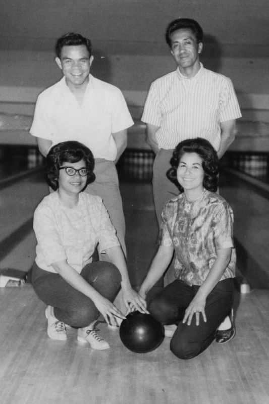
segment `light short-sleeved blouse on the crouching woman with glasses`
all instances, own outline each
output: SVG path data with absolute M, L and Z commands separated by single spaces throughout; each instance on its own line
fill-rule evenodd
M 101 198 L 86 192 L 79 193 L 72 209 L 62 205 L 57 191 L 45 196 L 34 212 L 33 227 L 36 264 L 49 272 L 56 272 L 52 263 L 67 260 L 80 273 L 97 244 L 100 252 L 120 245 Z

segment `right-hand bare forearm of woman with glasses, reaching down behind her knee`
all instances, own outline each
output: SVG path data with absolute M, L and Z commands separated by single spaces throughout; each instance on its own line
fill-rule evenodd
M 122 291 L 125 306 L 128 311 L 136 309 L 141 313 L 147 313 L 145 300 L 132 288 L 125 258 L 120 246 L 107 248 L 105 250 L 107 257 L 112 264 L 116 265 L 122 276 Z

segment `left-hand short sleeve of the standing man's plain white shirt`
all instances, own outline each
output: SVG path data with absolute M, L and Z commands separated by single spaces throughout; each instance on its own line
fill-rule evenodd
M 42 94 L 40 94 L 37 97 L 30 133 L 35 137 L 52 140 L 53 132 L 52 119 L 49 118 L 49 105 L 44 102 Z

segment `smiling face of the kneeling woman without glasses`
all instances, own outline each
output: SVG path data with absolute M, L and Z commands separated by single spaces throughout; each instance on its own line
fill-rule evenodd
M 197 153 L 185 153 L 179 162 L 177 179 L 184 192 L 197 197 L 203 190 L 204 171 Z

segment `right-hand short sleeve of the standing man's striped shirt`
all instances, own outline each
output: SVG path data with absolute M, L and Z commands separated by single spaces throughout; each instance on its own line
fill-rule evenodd
M 220 122 L 241 118 L 241 111 L 232 81 L 226 78 L 220 94 Z

